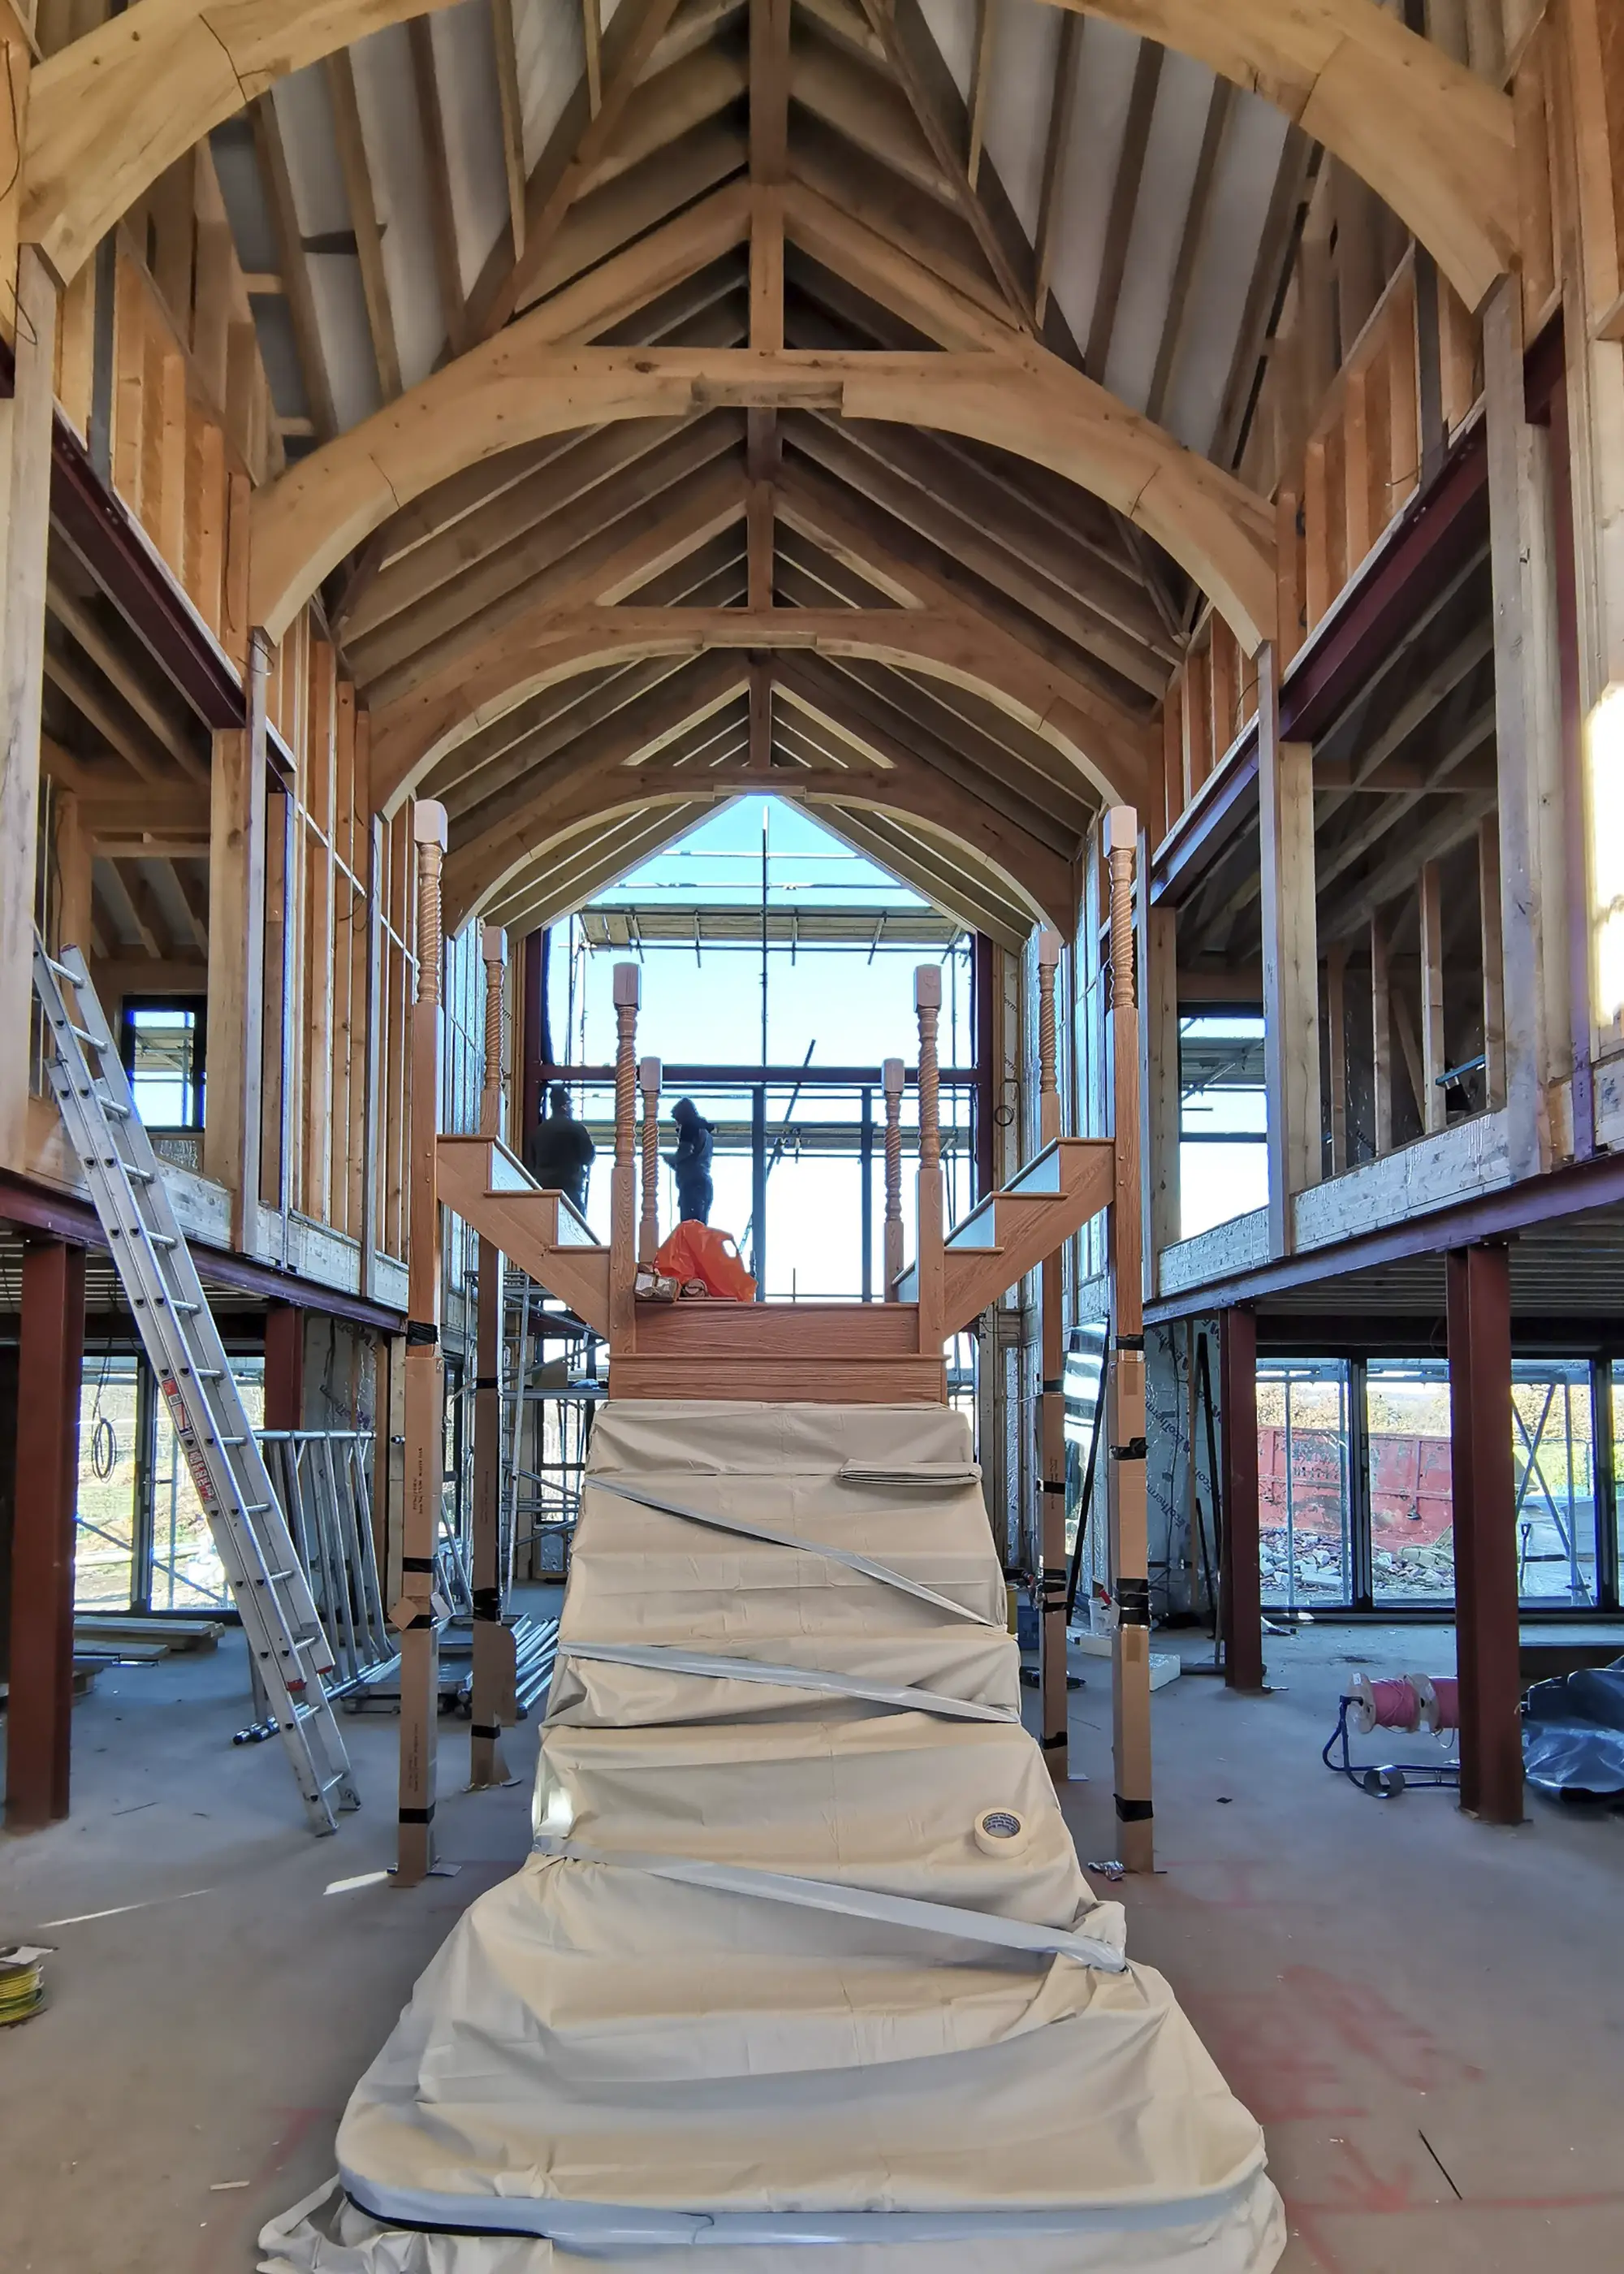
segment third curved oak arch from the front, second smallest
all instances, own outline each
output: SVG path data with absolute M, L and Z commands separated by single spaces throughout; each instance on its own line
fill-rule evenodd
M 935 609 L 805 609 L 805 607 L 598 607 L 557 619 L 544 634 L 523 639 L 489 669 L 471 669 L 432 694 L 405 696 L 373 714 L 373 800 L 393 814 L 430 766 L 459 741 L 516 709 L 530 696 L 582 671 L 644 662 L 655 655 L 705 655 L 716 648 L 751 653 L 812 650 L 919 671 L 964 687 L 1008 712 L 1060 750 L 1108 805 L 1144 796 L 1151 732 L 1137 744 L 1117 723 L 1105 730 L 1069 698 L 1062 675 L 1039 655 L 1021 659 L 1021 687 L 989 632 L 964 616 Z

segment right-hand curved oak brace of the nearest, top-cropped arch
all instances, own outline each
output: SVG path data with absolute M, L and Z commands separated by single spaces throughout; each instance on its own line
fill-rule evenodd
M 1051 0 L 1265 96 L 1387 200 L 1467 307 L 1517 264 L 1510 96 L 1374 0 Z

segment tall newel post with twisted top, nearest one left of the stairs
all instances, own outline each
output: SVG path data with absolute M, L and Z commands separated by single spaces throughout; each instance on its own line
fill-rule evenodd
M 434 1546 L 446 1474 L 446 1412 L 439 1355 L 439 869 L 446 807 L 419 798 L 416 844 L 416 1001 L 412 1003 L 412 1219 L 407 1253 L 405 1355 L 405 1519 L 400 1530 L 400 1835 L 396 1885 L 416 1887 L 434 1869 L 434 1737 L 439 1724 L 439 1617 Z

